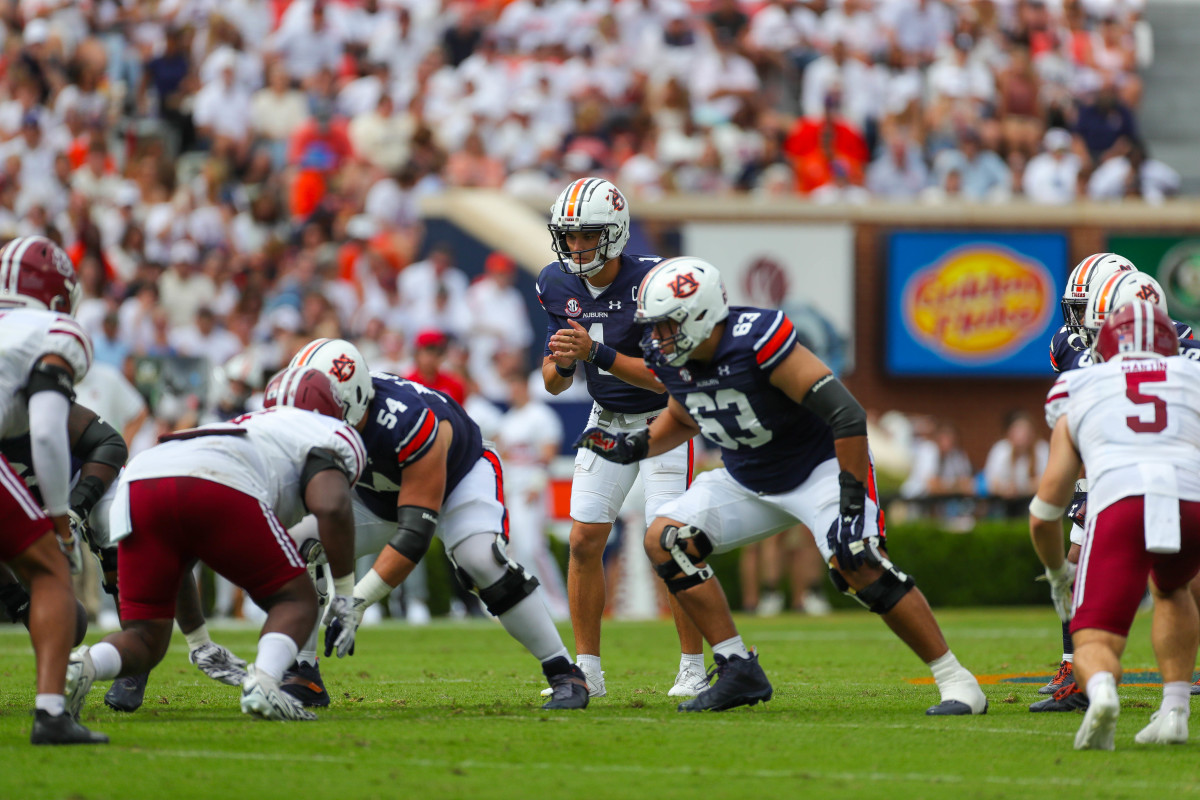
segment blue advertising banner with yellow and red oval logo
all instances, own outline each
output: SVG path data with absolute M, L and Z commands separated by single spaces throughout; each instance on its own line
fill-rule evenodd
M 893 375 L 1050 375 L 1067 273 L 1061 234 L 895 233 L 886 366 Z

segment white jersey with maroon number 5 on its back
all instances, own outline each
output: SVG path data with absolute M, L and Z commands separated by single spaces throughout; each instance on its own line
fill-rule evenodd
M 1200 363 L 1127 359 L 1063 374 L 1046 422 L 1066 415 L 1087 468 L 1087 516 L 1127 497 L 1200 500 Z

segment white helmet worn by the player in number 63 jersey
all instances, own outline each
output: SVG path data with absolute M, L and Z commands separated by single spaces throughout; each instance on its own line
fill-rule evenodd
M 728 315 L 721 273 L 698 258 L 668 258 L 650 270 L 637 289 L 634 319 L 647 326 L 642 351 L 652 366 L 680 366 Z M 678 325 L 676 332 L 655 337 L 654 325 L 668 319 Z M 664 350 L 668 344 L 673 345 L 670 353 Z

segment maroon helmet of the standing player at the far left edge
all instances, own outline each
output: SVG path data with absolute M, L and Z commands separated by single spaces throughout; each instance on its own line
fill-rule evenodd
M 0 248 L 0 306 L 74 317 L 82 295 L 71 259 L 46 236 L 22 236 Z

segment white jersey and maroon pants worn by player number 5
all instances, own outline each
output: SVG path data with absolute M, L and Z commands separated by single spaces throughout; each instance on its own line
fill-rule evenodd
M 1124 636 L 1147 576 L 1171 591 L 1200 571 L 1200 363 L 1069 372 L 1046 398 L 1048 422 L 1064 415 L 1088 481 L 1072 630 Z

